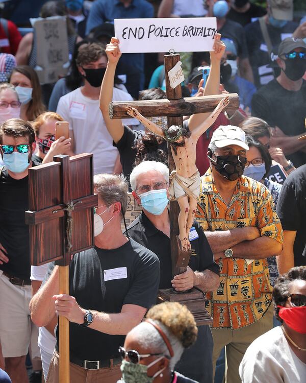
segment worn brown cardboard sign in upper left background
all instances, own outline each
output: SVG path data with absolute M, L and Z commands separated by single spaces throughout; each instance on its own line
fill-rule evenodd
M 67 74 L 69 47 L 64 16 L 30 19 L 36 39 L 36 73 L 41 84 L 56 82 Z

